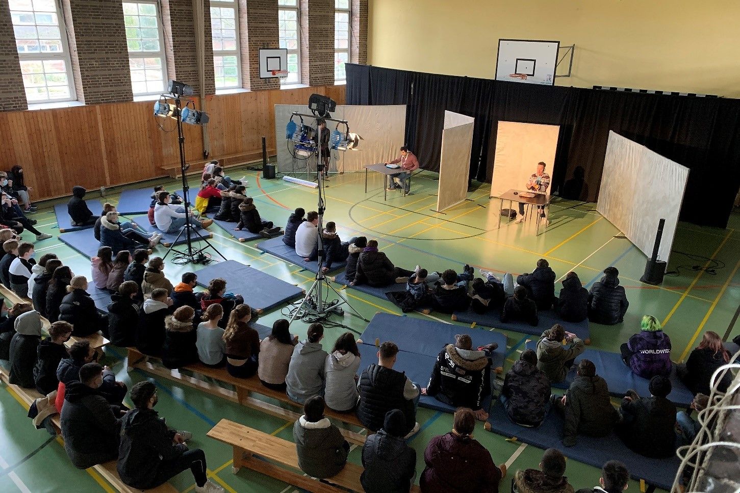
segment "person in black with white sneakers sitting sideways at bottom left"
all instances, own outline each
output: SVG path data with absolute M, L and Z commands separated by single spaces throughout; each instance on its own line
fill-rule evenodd
M 135 408 L 121 418 L 121 446 L 118 449 L 118 475 L 135 489 L 151 489 L 190 469 L 196 493 L 223 493 L 223 488 L 206 477 L 206 455 L 201 449 L 188 449 L 190 432 L 166 426 L 154 410 L 157 387 L 149 380 L 131 389 Z

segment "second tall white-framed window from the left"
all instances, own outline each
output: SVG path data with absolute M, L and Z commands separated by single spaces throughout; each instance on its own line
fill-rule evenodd
M 124 2 L 124 23 L 134 95 L 163 93 L 166 65 L 157 2 Z

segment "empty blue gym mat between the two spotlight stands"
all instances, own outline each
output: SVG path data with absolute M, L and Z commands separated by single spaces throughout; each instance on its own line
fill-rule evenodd
M 207 287 L 212 279 L 225 279 L 226 291 L 242 295 L 245 303 L 261 310 L 302 298 L 304 294 L 298 286 L 233 260 L 211 264 L 195 273 L 198 274 L 198 285 L 203 287 Z

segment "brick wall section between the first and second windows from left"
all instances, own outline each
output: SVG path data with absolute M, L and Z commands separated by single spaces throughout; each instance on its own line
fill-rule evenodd
M 77 99 L 84 104 L 131 101 L 131 73 L 122 0 L 63 0 Z

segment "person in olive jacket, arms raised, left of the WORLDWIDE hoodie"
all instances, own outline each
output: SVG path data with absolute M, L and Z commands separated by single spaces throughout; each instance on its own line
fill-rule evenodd
M 565 346 L 562 341 L 565 339 Z M 573 360 L 586 350 L 578 336 L 565 332 L 562 325 L 556 323 L 551 329 L 542 332 L 537 341 L 537 368 L 545 372 L 550 383 L 565 380 Z

